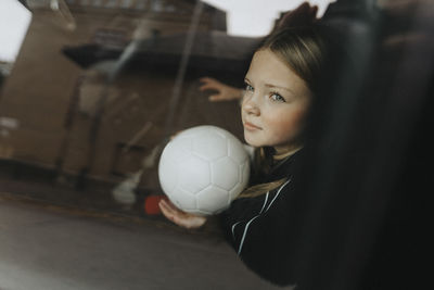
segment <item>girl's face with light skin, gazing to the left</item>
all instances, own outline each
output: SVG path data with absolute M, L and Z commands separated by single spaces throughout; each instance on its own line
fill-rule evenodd
M 241 115 L 246 142 L 273 147 L 278 153 L 298 148 L 311 98 L 305 81 L 273 52 L 259 50 L 245 83 Z

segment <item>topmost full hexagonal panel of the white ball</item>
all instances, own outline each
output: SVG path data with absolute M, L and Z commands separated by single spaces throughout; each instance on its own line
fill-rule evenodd
M 226 156 L 228 153 L 226 138 L 214 131 L 203 130 L 200 135 L 194 136 L 192 152 L 206 160 Z

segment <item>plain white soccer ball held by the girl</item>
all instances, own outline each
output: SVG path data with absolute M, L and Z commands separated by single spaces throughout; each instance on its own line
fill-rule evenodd
M 175 136 L 159 157 L 163 191 L 180 210 L 216 214 L 246 187 L 250 160 L 241 141 L 216 126 L 192 127 Z

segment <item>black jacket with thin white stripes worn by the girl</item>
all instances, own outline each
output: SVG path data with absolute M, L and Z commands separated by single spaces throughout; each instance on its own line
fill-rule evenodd
M 296 178 L 298 155 L 297 152 L 278 162 L 268 175 L 253 182 L 288 178 L 282 186 L 255 198 L 237 199 L 219 215 L 227 239 L 245 265 L 266 280 L 281 286 L 295 282 L 291 270 L 294 266 L 291 244 L 295 231 L 292 230 L 289 202 L 294 194 L 292 184 Z

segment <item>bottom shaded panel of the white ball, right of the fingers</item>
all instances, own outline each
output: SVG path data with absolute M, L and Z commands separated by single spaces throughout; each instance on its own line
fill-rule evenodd
M 196 196 L 197 209 L 202 212 L 218 213 L 229 206 L 229 193 L 226 190 L 210 186 Z

